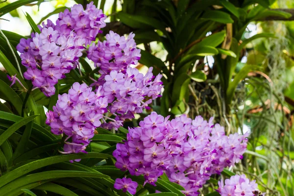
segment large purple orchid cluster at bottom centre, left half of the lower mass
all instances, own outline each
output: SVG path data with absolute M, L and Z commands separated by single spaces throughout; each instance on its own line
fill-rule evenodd
M 183 123 L 152 112 L 140 127 L 129 128 L 127 141 L 117 144 L 113 156 L 117 159 L 115 166 L 131 175 L 144 175 L 145 183 L 155 186 L 157 178 L 170 165 L 173 149 L 183 139 L 180 128 Z

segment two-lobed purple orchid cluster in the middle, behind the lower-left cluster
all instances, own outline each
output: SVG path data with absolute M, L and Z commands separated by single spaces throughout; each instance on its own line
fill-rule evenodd
M 98 41 L 89 47 L 88 58 L 99 67 L 101 76 L 98 80 L 92 78 L 97 92 L 108 97 L 111 114 L 115 120 L 123 122 L 125 119 L 134 118 L 134 114 L 142 113 L 152 99 L 161 97 L 162 75 L 154 76 L 152 67 L 143 75 L 131 64 L 137 64 L 141 57 L 140 49 L 136 49 L 134 34 L 130 33 L 127 38 L 110 31 L 106 40 Z M 116 124 L 103 123 L 106 129 L 115 128 Z

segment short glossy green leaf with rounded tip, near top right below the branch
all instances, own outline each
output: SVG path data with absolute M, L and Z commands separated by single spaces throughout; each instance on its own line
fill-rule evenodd
M 202 19 L 215 21 L 218 23 L 234 23 L 233 19 L 230 17 L 229 14 L 219 11 L 219 10 L 209 10 L 204 12 Z

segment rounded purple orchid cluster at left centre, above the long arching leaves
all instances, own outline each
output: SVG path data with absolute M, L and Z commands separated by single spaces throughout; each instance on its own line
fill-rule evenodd
M 63 154 L 85 152 L 99 121 L 107 112 L 107 97 L 101 97 L 86 84 L 75 82 L 68 94 L 58 95 L 53 111 L 47 112 L 46 123 L 55 135 L 65 134 Z M 69 141 L 72 142 L 69 142 Z M 79 160 L 75 160 L 79 161 Z

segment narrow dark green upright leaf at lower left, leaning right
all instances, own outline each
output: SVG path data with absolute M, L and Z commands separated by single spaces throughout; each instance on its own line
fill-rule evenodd
M 17 158 L 18 156 L 20 156 L 21 154 L 25 152 L 25 148 L 27 146 L 32 127 L 33 127 L 33 121 L 26 124 L 24 134 L 22 135 L 19 144 L 14 150 L 13 159 Z

